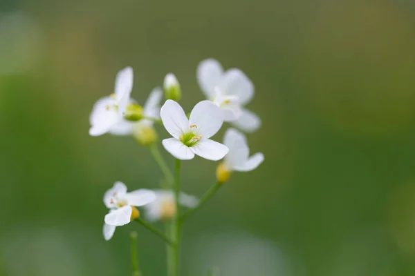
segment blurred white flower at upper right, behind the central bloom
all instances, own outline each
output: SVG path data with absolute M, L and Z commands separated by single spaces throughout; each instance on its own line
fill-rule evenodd
M 239 69 L 223 71 L 215 59 L 205 59 L 197 68 L 197 79 L 207 99 L 223 110 L 224 121 L 253 132 L 261 126 L 255 113 L 243 108 L 254 96 L 252 81 Z

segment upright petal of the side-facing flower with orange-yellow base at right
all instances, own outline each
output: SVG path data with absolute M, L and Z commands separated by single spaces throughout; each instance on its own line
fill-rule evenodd
M 234 128 L 229 128 L 225 132 L 223 144 L 229 148 L 229 153 L 225 156 L 225 164 L 233 168 L 246 163 L 249 157 L 249 148 L 245 135 Z

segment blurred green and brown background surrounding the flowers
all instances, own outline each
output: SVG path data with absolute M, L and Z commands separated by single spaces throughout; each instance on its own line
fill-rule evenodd
M 415 275 L 412 0 L 2 0 L 0 275 L 130 275 L 132 229 L 144 275 L 165 275 L 146 229 L 102 237 L 104 191 L 156 188 L 158 166 L 88 118 L 125 66 L 140 102 L 174 72 L 190 110 L 208 57 L 255 83 L 266 161 L 188 221 L 182 275 Z M 185 162 L 183 190 L 215 167 Z

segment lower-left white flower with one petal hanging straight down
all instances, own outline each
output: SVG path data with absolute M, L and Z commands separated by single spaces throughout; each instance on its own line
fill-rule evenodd
M 104 195 L 104 204 L 109 208 L 109 213 L 105 215 L 103 234 L 106 240 L 111 239 L 116 230 L 116 226 L 128 224 L 132 219 L 139 215 L 134 206 L 145 206 L 156 200 L 156 193 L 152 190 L 140 189 L 127 193 L 124 183 L 118 181 L 113 188 L 107 190 Z

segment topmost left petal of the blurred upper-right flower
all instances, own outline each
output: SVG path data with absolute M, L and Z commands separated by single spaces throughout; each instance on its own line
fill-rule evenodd
M 214 97 L 214 87 L 219 85 L 223 68 L 216 59 L 205 59 L 197 67 L 197 81 L 207 99 Z

